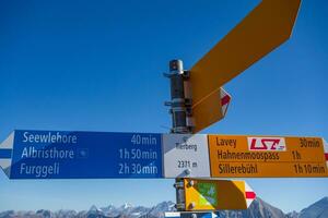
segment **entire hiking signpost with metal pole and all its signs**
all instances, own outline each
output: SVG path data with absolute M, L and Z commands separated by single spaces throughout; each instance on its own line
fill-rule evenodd
M 320 137 L 195 134 L 224 118 L 222 85 L 289 39 L 300 3 L 263 0 L 190 71 L 171 61 L 173 134 L 16 130 L 0 144 L 0 167 L 10 179 L 177 178 L 185 213 L 171 218 L 213 218 L 199 211 L 246 209 L 256 197 L 244 181 L 211 178 L 328 177 Z

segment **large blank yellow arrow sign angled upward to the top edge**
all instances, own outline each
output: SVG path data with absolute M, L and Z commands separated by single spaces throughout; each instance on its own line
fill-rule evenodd
M 192 107 L 290 38 L 300 3 L 263 0 L 197 62 L 190 70 Z

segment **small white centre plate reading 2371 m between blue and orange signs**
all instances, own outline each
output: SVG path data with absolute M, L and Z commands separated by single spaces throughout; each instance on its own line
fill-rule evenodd
M 165 178 L 209 178 L 209 146 L 206 134 L 163 134 Z

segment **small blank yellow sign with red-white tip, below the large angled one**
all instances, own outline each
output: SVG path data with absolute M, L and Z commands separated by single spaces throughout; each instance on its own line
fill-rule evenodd
M 206 100 L 192 107 L 192 133 L 218 122 L 225 117 L 231 96 L 223 89 L 212 93 Z

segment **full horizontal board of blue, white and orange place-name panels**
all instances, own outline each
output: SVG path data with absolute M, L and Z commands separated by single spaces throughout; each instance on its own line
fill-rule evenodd
M 10 179 L 328 177 L 320 137 L 16 130 Z

